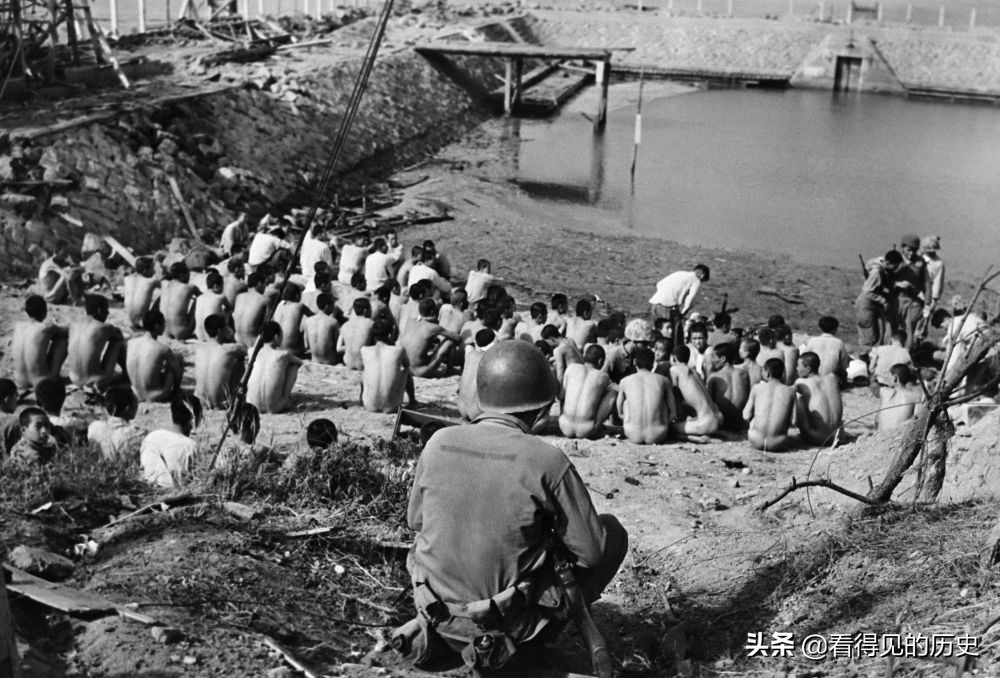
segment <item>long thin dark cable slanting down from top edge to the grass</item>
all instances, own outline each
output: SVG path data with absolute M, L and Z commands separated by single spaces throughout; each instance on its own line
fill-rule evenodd
M 382 11 L 380 12 L 378 21 L 376 22 L 375 31 L 372 33 L 372 37 L 368 42 L 368 49 L 365 51 L 365 56 L 362 59 L 361 70 L 358 72 L 357 78 L 354 81 L 354 88 L 351 91 L 350 99 L 348 99 L 347 109 L 344 112 L 344 116 L 340 119 L 340 127 L 337 130 L 336 137 L 334 137 L 334 143 L 330 149 L 330 154 L 327 157 L 327 162 L 323 168 L 323 174 L 320 177 L 319 184 L 316 186 L 316 190 L 313 193 L 313 198 L 309 205 L 309 211 L 306 213 L 302 235 L 299 237 L 298 242 L 295 245 L 295 249 L 292 252 L 292 256 L 289 258 L 288 265 L 285 268 L 284 280 L 281 281 L 281 286 L 278 288 L 277 298 L 279 303 L 280 300 L 284 298 L 285 288 L 288 286 L 288 280 L 291 277 L 295 262 L 299 258 L 299 253 L 302 251 L 302 245 L 305 242 L 306 236 L 309 235 L 309 232 L 312 230 L 313 222 L 316 219 L 316 213 L 326 200 L 326 195 L 330 187 L 330 182 L 333 179 L 337 161 L 340 159 L 344 143 L 347 141 L 347 136 L 354 123 L 354 118 L 357 116 L 358 109 L 361 107 L 361 100 L 364 97 L 365 90 L 368 87 L 368 80 L 375 67 L 375 59 L 378 56 L 378 50 L 382 44 L 382 38 L 385 35 L 385 29 L 389 21 L 389 15 L 392 12 L 394 2 L 395 0 L 385 0 L 385 3 L 382 5 Z M 276 308 L 277 304 L 274 306 L 274 309 Z M 265 323 L 270 321 L 273 317 L 274 309 L 268 309 L 265 312 Z M 211 462 L 209 462 L 209 469 L 214 468 L 216 459 L 222 451 L 222 446 L 225 444 L 226 437 L 232 428 L 236 413 L 246 399 L 246 389 L 247 384 L 250 381 L 250 373 L 262 347 L 263 341 L 261 337 L 258 336 L 257 342 L 253 347 L 253 352 L 250 354 L 250 358 L 247 361 L 247 366 L 244 370 L 243 378 L 240 380 L 240 385 L 235 394 L 235 398 L 230 404 L 226 415 L 226 426 L 219 437 L 218 444 L 215 446 L 215 452 L 212 454 Z

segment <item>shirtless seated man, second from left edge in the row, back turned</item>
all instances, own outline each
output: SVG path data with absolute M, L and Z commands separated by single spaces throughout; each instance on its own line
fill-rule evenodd
M 105 390 L 125 377 L 125 339 L 121 330 L 105 322 L 108 300 L 99 294 L 84 297 L 87 317 L 69 328 L 69 378 L 77 386 Z M 115 367 L 122 374 L 115 373 Z

